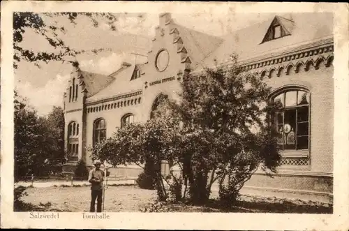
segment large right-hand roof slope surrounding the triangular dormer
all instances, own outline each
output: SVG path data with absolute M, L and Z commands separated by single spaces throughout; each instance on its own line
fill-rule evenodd
M 275 18 L 279 20 L 283 28 L 290 32 L 290 36 L 262 43 Z M 232 53 L 238 54 L 239 61 L 242 61 L 269 54 L 276 50 L 289 50 L 292 45 L 310 43 L 312 40 L 326 36 L 333 36 L 332 13 L 292 13 L 292 15 L 283 17 L 276 16 L 265 22 L 233 31 L 224 36 L 224 42 L 202 64 L 204 66 L 214 66 L 214 59 L 220 63 L 228 59 Z

